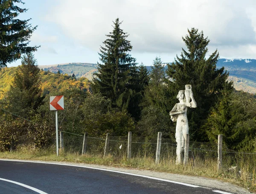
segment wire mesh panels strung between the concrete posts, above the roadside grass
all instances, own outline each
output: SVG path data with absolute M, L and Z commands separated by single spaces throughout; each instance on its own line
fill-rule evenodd
M 49 137 L 47 141 L 37 140 L 26 135 L 20 136 L 15 141 L 10 140 L 8 148 L 10 151 L 24 148 L 41 149 L 55 148 L 55 136 Z M 62 132 L 62 139 L 59 139 L 60 153 L 89 154 L 92 156 L 104 156 L 127 158 L 128 155 L 128 136 L 109 137 L 108 146 L 106 147 L 106 138 L 87 137 L 84 135 L 70 134 Z M 183 143 L 181 143 L 183 144 Z M 107 149 L 107 150 L 106 150 Z M 55 149 L 52 149 L 53 152 Z M 218 145 L 217 143 L 189 142 L 189 163 L 193 166 L 208 166 L 218 163 Z M 157 153 L 157 138 L 132 137 L 131 139 L 131 157 L 141 158 L 148 157 L 155 159 Z M 177 142 L 173 139 L 161 139 L 160 161 L 175 161 L 177 153 L 184 158 L 184 147 L 177 150 Z M 249 166 L 248 170 L 256 169 L 256 153 L 241 153 L 223 149 L 222 168 L 232 172 L 241 173 L 244 166 Z

